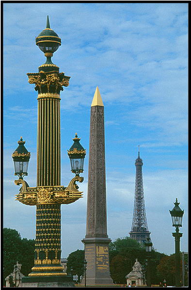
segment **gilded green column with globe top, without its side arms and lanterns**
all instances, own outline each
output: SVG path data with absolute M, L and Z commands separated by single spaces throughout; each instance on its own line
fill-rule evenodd
M 35 265 L 29 276 L 66 275 L 60 264 L 61 204 L 51 196 L 55 186 L 61 186 L 60 91 L 69 85 L 70 77 L 59 73 L 51 61 L 61 38 L 50 29 L 49 19 L 47 28 L 36 37 L 36 45 L 47 61 L 38 73 L 27 74 L 38 92 Z

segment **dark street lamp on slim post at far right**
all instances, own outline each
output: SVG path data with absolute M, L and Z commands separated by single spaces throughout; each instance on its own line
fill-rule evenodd
M 177 198 L 174 202 L 175 207 L 170 211 L 173 226 L 175 226 L 175 233 L 173 237 L 175 237 L 175 284 L 176 287 L 180 287 L 180 238 L 182 237 L 182 233 L 179 233 L 179 227 L 182 226 L 182 217 L 184 214 L 184 210 L 179 208 L 180 203 L 178 202 Z

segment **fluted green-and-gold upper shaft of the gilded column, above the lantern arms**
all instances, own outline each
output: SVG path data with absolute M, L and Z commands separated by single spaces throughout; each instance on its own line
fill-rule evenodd
M 43 95 L 47 95 L 43 97 Z M 61 184 L 60 95 L 38 95 L 37 186 Z

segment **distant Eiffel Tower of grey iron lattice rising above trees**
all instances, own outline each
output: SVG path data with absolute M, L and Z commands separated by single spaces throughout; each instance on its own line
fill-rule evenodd
M 135 178 L 135 200 L 133 210 L 133 221 L 131 231 L 129 232 L 130 238 L 137 240 L 140 243 L 146 242 L 146 238 L 150 232 L 146 221 L 146 211 L 144 205 L 144 190 L 143 190 L 143 160 L 140 158 L 140 151 L 138 158 L 135 161 L 136 178 Z

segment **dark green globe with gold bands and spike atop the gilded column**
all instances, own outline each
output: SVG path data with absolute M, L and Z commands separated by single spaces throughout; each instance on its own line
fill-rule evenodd
M 50 28 L 48 16 L 47 27 L 40 32 L 35 41 L 36 45 L 45 53 L 45 56 L 47 57 L 51 57 L 59 46 L 61 46 L 61 38 Z

